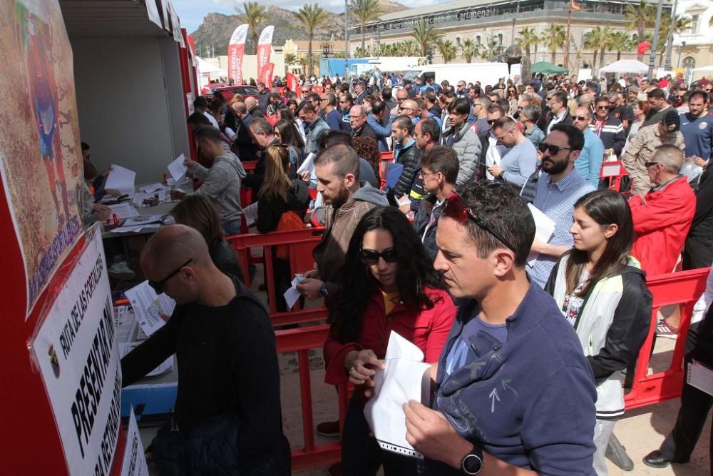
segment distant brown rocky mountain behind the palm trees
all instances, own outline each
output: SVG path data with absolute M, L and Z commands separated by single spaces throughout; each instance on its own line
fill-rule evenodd
M 394 1 L 381 0 L 381 6 L 385 13 L 392 11 L 403 11 L 406 6 Z M 329 18 L 317 29 L 314 34 L 314 48 L 319 49 L 319 41 L 330 39 L 334 35 L 335 40 L 344 39 L 344 14 L 329 13 Z M 308 40 L 307 32 L 302 24 L 295 19 L 291 11 L 281 9 L 279 6 L 268 6 L 267 14 L 270 18 L 265 24 L 260 25 L 260 31 L 267 25 L 275 25 L 275 34 L 272 36 L 272 44 L 282 45 L 288 39 Z M 244 23 L 240 15 L 224 15 L 211 13 L 203 18 L 203 23 L 196 31 L 193 31 L 195 48 L 199 56 L 210 56 L 211 51 L 215 56 L 227 54 L 227 44 L 230 42 L 230 35 L 235 28 Z M 245 54 L 255 54 L 255 43 L 247 36 Z

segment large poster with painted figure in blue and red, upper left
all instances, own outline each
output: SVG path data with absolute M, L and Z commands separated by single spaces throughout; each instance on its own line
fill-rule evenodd
M 22 250 L 27 318 L 80 236 L 72 49 L 56 0 L 0 2 L 0 178 Z

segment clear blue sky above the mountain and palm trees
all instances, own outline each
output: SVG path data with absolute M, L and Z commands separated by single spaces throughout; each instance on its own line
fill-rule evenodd
M 260 4 L 265 6 L 275 5 L 275 1 L 257 0 Z M 309 0 L 311 3 L 312 0 Z M 344 11 L 344 0 L 316 0 L 319 6 L 327 9 L 329 11 L 339 12 Z M 426 6 L 433 4 L 442 4 L 443 0 L 394 0 L 398 1 L 400 4 L 404 4 L 411 8 L 417 6 Z M 180 24 L 183 28 L 191 33 L 198 29 L 198 26 L 203 21 L 203 17 L 206 14 L 215 12 L 220 14 L 235 14 L 235 7 L 241 6 L 242 0 L 173 0 L 173 6 L 175 6 L 178 16 L 180 17 Z M 283 9 L 297 10 L 299 7 L 307 3 L 307 0 L 282 0 L 277 3 L 278 6 Z

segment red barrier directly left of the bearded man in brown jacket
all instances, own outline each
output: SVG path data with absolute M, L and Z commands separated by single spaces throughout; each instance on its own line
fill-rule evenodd
M 324 307 L 312 309 L 299 309 L 299 303 L 295 304 L 297 309 L 284 313 L 277 312 L 277 293 L 273 283 L 274 270 L 272 266 L 272 247 L 277 245 L 287 245 L 289 250 L 289 268 L 294 273 L 304 273 L 315 268 L 312 250 L 322 239 L 324 228 L 304 228 L 297 231 L 277 231 L 272 233 L 246 233 L 242 235 L 229 236 L 226 238 L 232 249 L 237 252 L 238 260 L 245 275 L 245 284 L 250 286 L 250 273 L 248 264 L 251 261 L 252 248 L 262 247 L 266 282 L 268 311 L 273 325 L 285 325 L 295 323 L 307 323 L 314 320 L 322 320 L 327 317 L 327 310 Z

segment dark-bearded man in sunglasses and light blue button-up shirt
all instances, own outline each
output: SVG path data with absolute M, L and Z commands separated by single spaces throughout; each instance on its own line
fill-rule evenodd
M 570 227 L 575 202 L 595 188 L 575 171 L 575 161 L 584 147 L 584 134 L 575 126 L 555 124 L 540 143 L 542 173 L 537 181 L 533 206 L 555 222 L 555 231 L 544 243 L 535 238 L 533 253 L 539 253 L 533 265 L 528 264 L 530 279 L 544 286 L 555 261 L 574 243 Z

